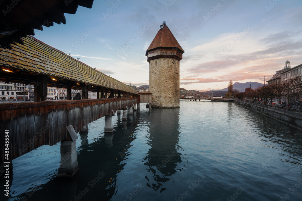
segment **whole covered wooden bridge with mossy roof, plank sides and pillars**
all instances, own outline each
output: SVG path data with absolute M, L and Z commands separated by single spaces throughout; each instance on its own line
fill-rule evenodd
M 125 119 L 126 109 L 132 111 L 139 103 L 139 94 L 32 36 L 22 41 L 23 45 L 0 49 L 0 81 L 34 85 L 35 102 L 0 104 L 0 165 L 42 145 L 61 142 L 59 176 L 72 177 L 78 171 L 76 133 L 104 116 L 105 132 L 112 132 L 111 116 L 123 109 Z M 47 86 L 66 88 L 67 100 L 46 101 Z M 82 100 L 71 100 L 71 89 L 81 90 Z M 87 99 L 88 91 L 97 92 L 97 99 Z M 8 159 L 5 130 L 9 133 Z

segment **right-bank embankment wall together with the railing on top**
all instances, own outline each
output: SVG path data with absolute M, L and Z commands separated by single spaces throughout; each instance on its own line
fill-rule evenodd
M 282 108 L 271 107 L 262 103 L 243 100 L 234 100 L 234 102 L 302 130 L 302 113 L 300 111 L 285 110 Z

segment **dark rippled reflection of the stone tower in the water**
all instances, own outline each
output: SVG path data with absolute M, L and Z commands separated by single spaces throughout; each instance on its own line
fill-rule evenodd
M 181 154 L 178 153 L 179 108 L 153 109 L 149 133 L 148 145 L 151 148 L 144 158 L 144 165 L 153 175 L 146 176 L 147 186 L 163 191 L 162 184 L 170 180 L 169 176 L 176 173 L 177 163 L 181 162 Z

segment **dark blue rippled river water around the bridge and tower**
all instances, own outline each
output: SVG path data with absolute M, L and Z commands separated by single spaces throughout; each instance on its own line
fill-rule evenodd
M 56 179 L 60 143 L 14 159 L 8 200 L 302 200 L 300 130 L 232 102 L 127 118 L 113 135 L 104 118 L 78 134 L 72 180 Z

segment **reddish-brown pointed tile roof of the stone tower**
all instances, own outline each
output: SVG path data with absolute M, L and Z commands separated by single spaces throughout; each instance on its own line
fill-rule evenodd
M 159 47 L 178 48 L 182 52 L 185 52 L 165 23 L 160 26 L 159 31 L 157 32 L 155 38 L 153 39 L 149 48 L 146 51 L 146 56 L 148 55 L 149 50 L 156 49 Z

